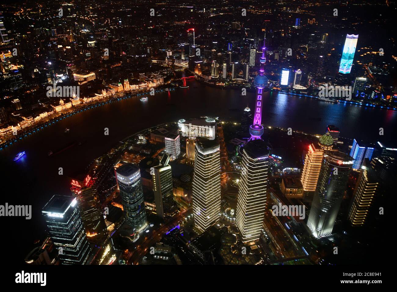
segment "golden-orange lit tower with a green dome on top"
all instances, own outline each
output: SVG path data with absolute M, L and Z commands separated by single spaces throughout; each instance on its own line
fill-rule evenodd
M 301 177 L 304 192 L 312 192 L 316 190 L 324 151 L 329 151 L 332 147 L 333 139 L 330 136 L 330 133 L 322 135 L 317 145 L 314 143 L 309 145 L 309 151 L 304 159 L 304 167 Z

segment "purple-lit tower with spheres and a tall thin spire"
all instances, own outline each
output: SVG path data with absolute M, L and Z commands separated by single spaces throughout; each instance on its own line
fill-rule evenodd
M 266 39 L 266 31 L 265 37 L 263 40 L 263 48 L 262 48 L 262 57 L 260 57 L 260 70 L 259 74 L 256 75 L 254 79 L 254 86 L 256 87 L 256 104 L 255 104 L 255 112 L 254 112 L 254 121 L 249 128 L 249 133 L 251 137 L 249 141 L 261 139 L 263 135 L 263 126 L 262 126 L 262 90 L 268 87 L 269 80 L 265 76 L 265 62 L 266 62 L 266 48 L 265 48 L 265 39 Z

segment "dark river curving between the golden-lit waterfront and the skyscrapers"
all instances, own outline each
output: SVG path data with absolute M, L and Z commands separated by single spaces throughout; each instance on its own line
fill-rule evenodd
M 164 122 L 176 122 L 180 118 L 218 116 L 239 122 L 243 109 L 246 106 L 253 108 L 254 92 L 241 96 L 238 89 L 208 87 L 195 80 L 188 83 L 190 87 L 186 89 L 149 95 L 148 101 L 131 97 L 75 114 L 0 151 L 0 180 L 4 186 L 0 205 L 6 202 L 32 205 L 31 220 L 8 217 L 9 225 L 3 224 L 6 240 L 13 241 L 10 252 L 15 253 L 17 262 L 23 260 L 33 240 L 39 238 L 40 230 L 44 230 L 40 212 L 48 199 L 54 194 L 71 194 L 68 175 L 85 170 L 93 159 L 103 155 L 118 141 L 139 130 Z M 334 124 L 343 137 L 397 146 L 393 135 L 397 111 L 332 104 L 277 93 L 266 93 L 263 102 L 264 125 L 314 134 L 325 133 L 326 126 Z M 69 133 L 64 133 L 65 128 L 70 129 Z M 104 135 L 104 128 L 109 129 L 109 135 Z M 384 128 L 383 136 L 379 135 L 379 128 Z M 81 141 L 82 145 L 48 156 L 48 151 L 55 152 L 73 141 Z M 14 162 L 13 157 L 19 151 L 26 151 L 26 155 Z M 58 174 L 60 167 L 64 175 Z M 14 250 L 13 244 L 19 246 L 21 253 Z

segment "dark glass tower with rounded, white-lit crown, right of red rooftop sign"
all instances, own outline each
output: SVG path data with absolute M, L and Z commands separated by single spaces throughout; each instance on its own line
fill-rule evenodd
M 141 172 L 131 163 L 121 165 L 116 169 L 117 182 L 123 203 L 125 221 L 135 229 L 142 230 L 146 227 L 145 202 L 141 182 Z

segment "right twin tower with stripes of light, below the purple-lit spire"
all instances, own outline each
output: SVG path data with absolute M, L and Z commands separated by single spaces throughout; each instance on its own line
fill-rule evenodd
M 269 150 L 263 140 L 251 140 L 242 150 L 236 222 L 243 243 L 259 239 L 268 188 Z

